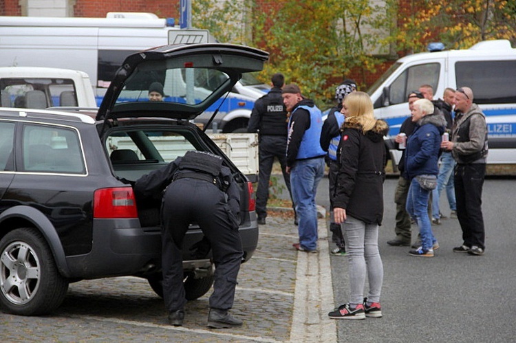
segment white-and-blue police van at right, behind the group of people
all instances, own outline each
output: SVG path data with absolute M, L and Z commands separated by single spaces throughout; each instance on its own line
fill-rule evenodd
M 390 126 L 387 146 L 397 165 L 392 139 L 407 118 L 408 94 L 431 85 L 442 98 L 447 87 L 471 87 L 488 125 L 488 164 L 516 163 L 516 49 L 506 40 L 482 41 L 464 50 L 427 52 L 400 58 L 367 91 L 376 118 Z

